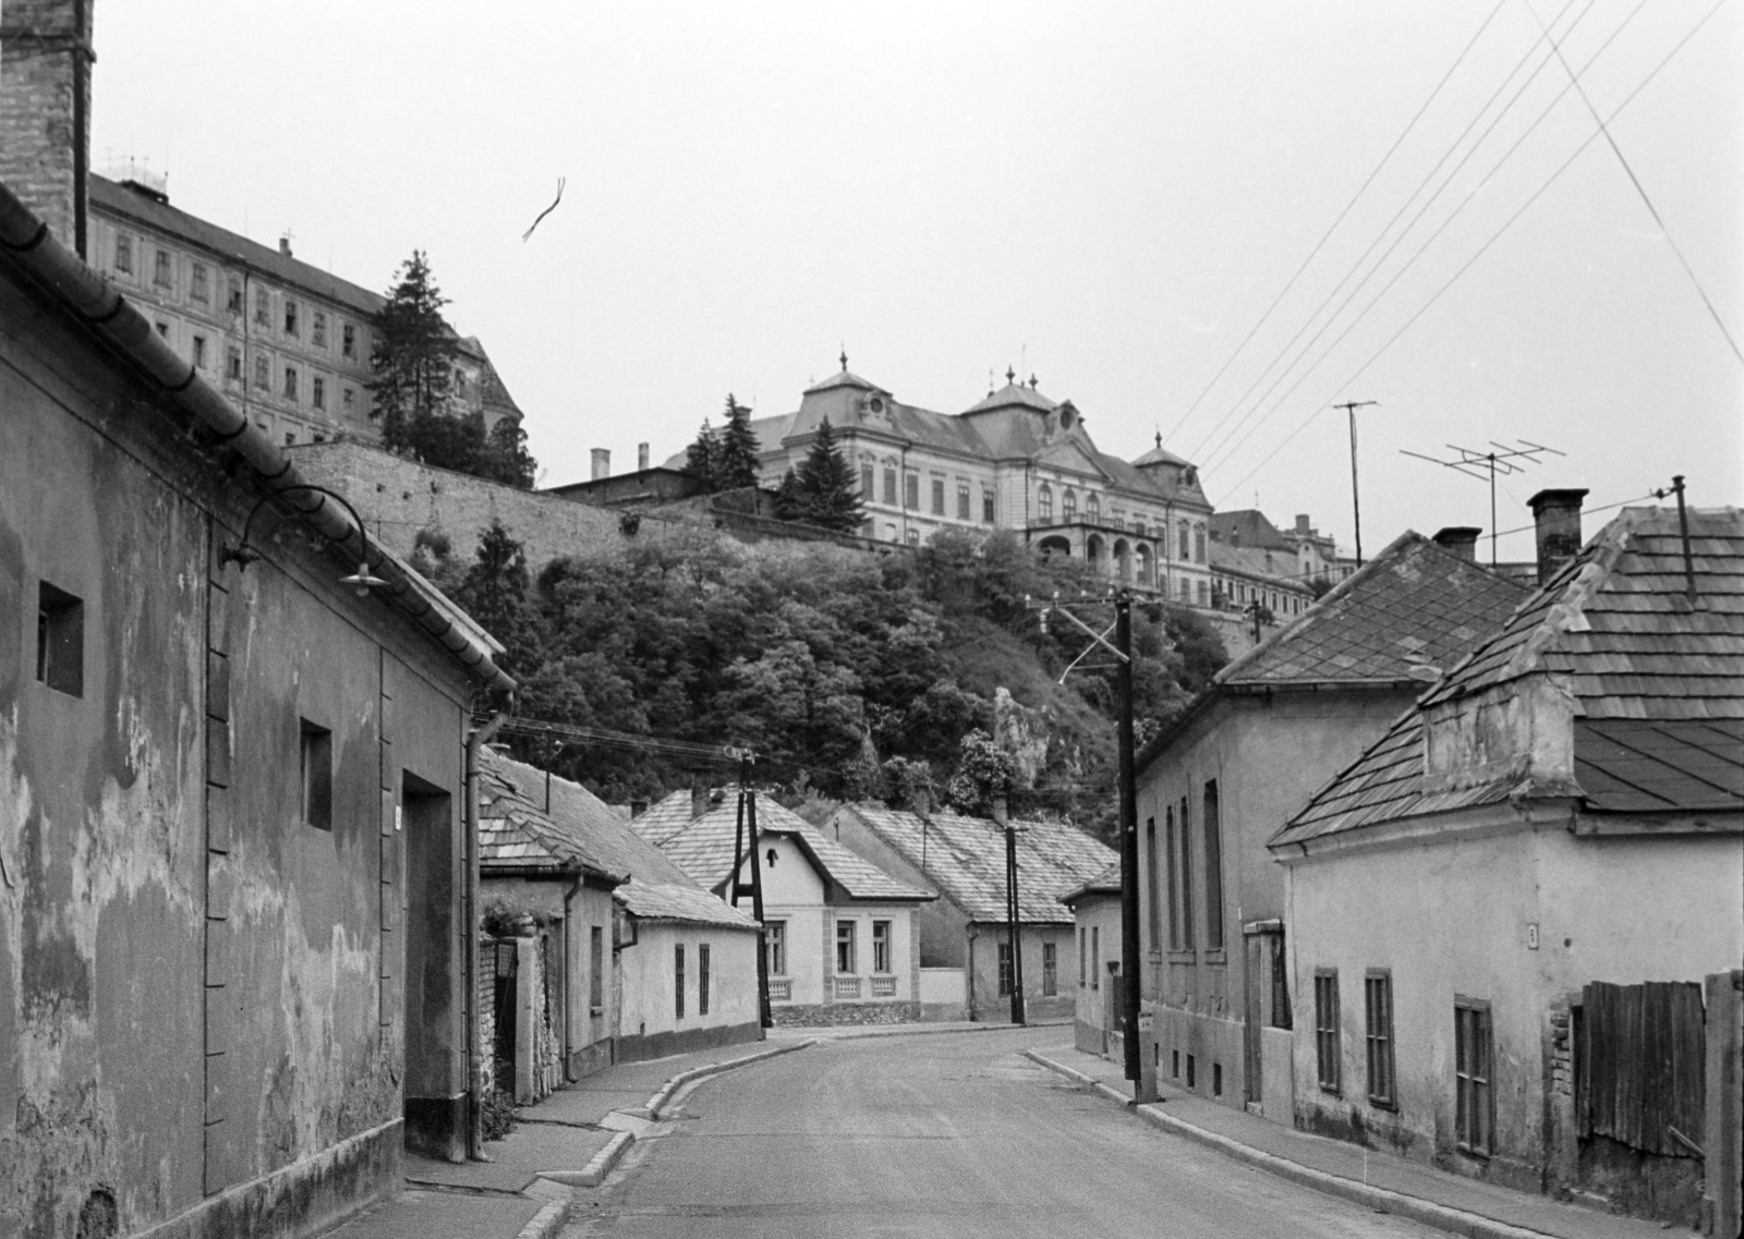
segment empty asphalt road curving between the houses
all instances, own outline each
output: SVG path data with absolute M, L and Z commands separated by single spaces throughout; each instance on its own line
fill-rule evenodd
M 705 1080 L 565 1236 L 1441 1236 L 1156 1131 L 1017 1053 L 1045 1040 L 834 1040 Z

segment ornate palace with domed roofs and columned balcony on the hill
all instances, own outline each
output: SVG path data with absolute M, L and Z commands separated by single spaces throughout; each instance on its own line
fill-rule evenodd
M 842 369 L 807 387 L 799 410 L 755 418 L 759 467 L 780 483 L 823 420 L 860 477 L 863 533 L 919 545 L 940 530 L 1020 530 L 1036 547 L 1085 559 L 1111 580 L 1210 605 L 1212 507 L 1198 469 L 1156 448 L 1137 460 L 1099 451 L 1071 401 L 1006 373 L 963 413 L 903 404 Z M 684 455 L 668 465 L 682 467 Z

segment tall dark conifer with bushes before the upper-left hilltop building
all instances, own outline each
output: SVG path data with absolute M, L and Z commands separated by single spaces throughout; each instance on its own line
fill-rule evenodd
M 459 340 L 441 317 L 448 298 L 436 288 L 422 249 L 412 251 L 394 281 L 377 314 L 370 354 L 382 446 L 438 469 L 530 490 L 537 462 L 521 429 L 504 418 L 487 434 L 481 413 L 455 404 Z

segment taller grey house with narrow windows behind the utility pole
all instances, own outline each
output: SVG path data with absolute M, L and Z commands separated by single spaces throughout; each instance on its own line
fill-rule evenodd
M 1402 533 L 1139 753 L 1142 1053 L 1172 1086 L 1292 1114 L 1287 908 L 1266 840 L 1524 599 L 1463 531 L 1449 540 Z

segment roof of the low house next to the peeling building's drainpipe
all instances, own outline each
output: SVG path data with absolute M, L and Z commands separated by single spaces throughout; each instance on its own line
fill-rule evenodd
M 501 868 L 560 870 L 579 861 L 593 871 L 628 878 L 612 890 L 612 899 L 640 920 L 757 927 L 748 915 L 692 882 L 664 852 L 637 835 L 617 810 L 579 782 L 548 775 L 490 749 L 481 765 L 480 864 L 487 873 Z

